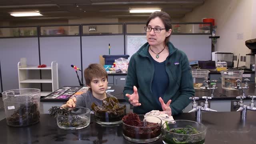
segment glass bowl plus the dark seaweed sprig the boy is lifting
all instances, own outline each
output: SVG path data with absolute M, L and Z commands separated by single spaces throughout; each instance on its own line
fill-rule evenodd
M 50 115 L 57 118 L 58 127 L 65 130 L 78 130 L 90 124 L 90 109 L 88 108 L 76 107 L 63 109 L 53 106 L 49 112 Z

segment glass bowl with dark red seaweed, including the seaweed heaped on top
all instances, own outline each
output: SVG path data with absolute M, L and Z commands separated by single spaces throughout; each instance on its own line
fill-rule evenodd
M 129 113 L 122 118 L 123 135 L 132 142 L 153 142 L 161 136 L 162 120 L 156 116 Z

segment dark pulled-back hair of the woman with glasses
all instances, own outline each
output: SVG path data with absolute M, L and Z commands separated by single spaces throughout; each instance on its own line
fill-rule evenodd
M 162 12 L 162 11 L 161 12 L 153 12 L 152 14 L 150 14 L 150 16 L 148 17 L 146 26 L 148 26 L 148 23 L 150 22 L 150 20 L 157 18 L 157 17 L 160 18 L 162 20 L 162 22 L 164 23 L 166 32 L 168 32 L 168 30 L 172 29 L 172 20 L 170 18 L 170 15 L 167 14 L 166 12 Z M 170 36 L 171 36 L 171 34 L 170 34 Z M 165 38 L 165 43 L 169 42 L 170 36 Z

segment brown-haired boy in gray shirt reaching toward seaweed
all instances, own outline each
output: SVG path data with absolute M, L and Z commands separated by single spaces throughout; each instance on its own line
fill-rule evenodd
M 84 70 L 84 78 L 89 90 L 79 96 L 68 100 L 62 108 L 74 108 L 76 106 L 85 107 L 92 110 L 91 105 L 102 105 L 102 100 L 112 96 L 106 93 L 108 87 L 108 74 L 104 67 L 100 64 L 90 64 Z

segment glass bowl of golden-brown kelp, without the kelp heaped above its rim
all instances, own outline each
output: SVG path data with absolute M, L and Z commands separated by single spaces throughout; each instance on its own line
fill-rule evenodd
M 119 104 L 119 108 L 124 105 Z M 94 111 L 94 117 L 96 123 L 101 125 L 116 125 L 122 123 L 122 118 L 126 115 L 126 106 L 122 110 L 115 112 L 96 112 Z

